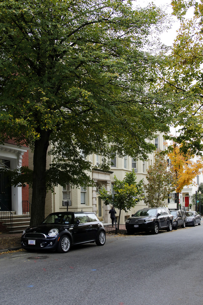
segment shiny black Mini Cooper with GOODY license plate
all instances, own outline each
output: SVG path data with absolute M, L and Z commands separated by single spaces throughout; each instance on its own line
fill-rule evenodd
M 23 231 L 21 246 L 26 250 L 57 249 L 68 252 L 71 245 L 96 242 L 103 246 L 106 233 L 103 223 L 92 212 L 51 213 L 42 225 Z

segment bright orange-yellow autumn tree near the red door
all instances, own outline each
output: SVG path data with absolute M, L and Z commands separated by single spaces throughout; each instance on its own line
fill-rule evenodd
M 168 157 L 170 160 L 170 171 L 173 176 L 173 183 L 177 193 L 177 208 L 179 208 L 179 193 L 184 186 L 195 185 L 194 178 L 200 174 L 203 168 L 203 158 L 194 159 L 194 155 L 188 150 L 186 154 L 181 150 L 182 145 L 173 143 Z

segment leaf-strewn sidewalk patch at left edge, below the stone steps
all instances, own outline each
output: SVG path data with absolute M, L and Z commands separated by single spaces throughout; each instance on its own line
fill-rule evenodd
M 0 232 L 0 253 L 21 249 L 22 233 L 1 233 Z

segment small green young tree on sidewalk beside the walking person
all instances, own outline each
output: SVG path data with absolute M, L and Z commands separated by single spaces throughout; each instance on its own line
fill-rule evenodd
M 99 194 L 106 206 L 110 204 L 119 210 L 119 230 L 121 210 L 127 212 L 143 199 L 143 180 L 136 182 L 134 170 L 126 173 L 123 180 L 114 176 L 114 194 L 108 194 L 104 186 L 99 190 Z

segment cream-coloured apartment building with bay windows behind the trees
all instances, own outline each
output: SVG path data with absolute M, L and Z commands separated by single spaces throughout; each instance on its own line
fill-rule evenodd
M 155 146 L 161 150 L 165 150 L 163 134 L 157 134 L 157 137 L 153 140 Z M 94 168 L 100 164 L 99 155 L 90 155 L 88 160 L 92 163 L 92 179 L 95 182 L 93 187 L 80 187 L 76 188 L 72 185 L 57 186 L 54 188 L 54 192 L 48 192 L 45 205 L 45 216 L 55 211 L 93 211 L 97 217 L 104 223 L 111 223 L 109 210 L 111 206 L 106 206 L 99 198 L 98 190 L 105 186 L 108 193 L 113 191 L 114 176 L 120 180 L 125 177 L 126 172 L 135 170 L 137 181 L 142 178 L 146 181 L 147 169 L 154 163 L 155 152 L 148 155 L 148 159 L 145 161 L 131 158 L 130 156 L 124 156 L 120 158 L 117 155 L 111 159 L 112 165 L 109 171 L 99 170 Z M 47 164 L 52 161 L 52 156 L 48 156 Z M 31 160 L 32 162 L 32 160 Z M 30 194 L 31 196 L 31 194 Z M 31 200 L 31 198 L 30 198 Z M 126 218 L 135 213 L 138 209 L 146 207 L 144 201 L 139 202 L 133 209 L 125 213 L 121 212 L 120 223 L 125 223 Z M 116 211 L 118 217 L 119 211 Z

